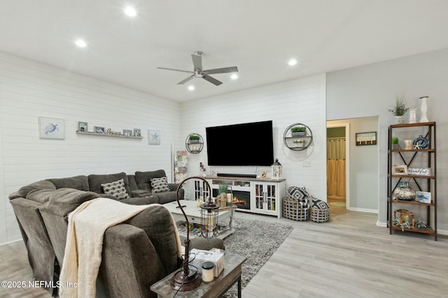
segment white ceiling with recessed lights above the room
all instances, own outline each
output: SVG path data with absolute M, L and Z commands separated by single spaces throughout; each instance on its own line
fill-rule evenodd
M 448 47 L 447 12 L 447 0 L 0 0 L 0 51 L 184 101 Z M 238 80 L 178 85 L 187 73 L 156 68 L 193 70 L 195 51 Z

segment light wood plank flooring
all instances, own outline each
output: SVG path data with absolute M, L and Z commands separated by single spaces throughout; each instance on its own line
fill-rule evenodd
M 237 212 L 294 226 L 242 291 L 255 297 L 448 297 L 448 237 L 437 241 L 375 225 L 377 214 L 330 207 L 328 223 Z M 0 280 L 29 281 L 22 241 L 0 246 Z M 0 288 L 0 297 L 50 297 L 45 290 Z

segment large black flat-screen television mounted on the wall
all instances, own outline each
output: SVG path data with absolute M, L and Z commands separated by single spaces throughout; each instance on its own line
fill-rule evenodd
M 207 127 L 209 165 L 272 165 L 272 121 Z

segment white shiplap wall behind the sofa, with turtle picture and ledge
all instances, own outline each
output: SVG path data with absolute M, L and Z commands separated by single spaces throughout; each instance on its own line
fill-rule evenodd
M 8 195 L 33 181 L 157 169 L 172 177 L 180 114 L 179 103 L 0 52 L 0 244 L 21 237 Z M 64 119 L 65 140 L 40 139 L 38 117 Z M 78 121 L 90 131 L 140 128 L 144 139 L 77 135 Z M 148 144 L 149 129 L 160 145 Z

